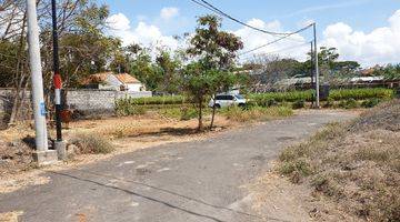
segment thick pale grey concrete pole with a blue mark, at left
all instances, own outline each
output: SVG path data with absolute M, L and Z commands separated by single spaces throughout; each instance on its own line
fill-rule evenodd
M 32 81 L 32 104 L 36 130 L 36 149 L 33 158 L 39 164 L 48 164 L 57 160 L 57 153 L 49 151 L 46 123 L 46 104 L 43 77 L 40 59 L 39 27 L 36 0 L 27 0 L 29 60 Z M 56 157 L 53 155 L 56 154 Z

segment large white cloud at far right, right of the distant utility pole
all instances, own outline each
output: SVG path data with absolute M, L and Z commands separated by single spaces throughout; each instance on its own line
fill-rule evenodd
M 400 62 L 400 10 L 388 20 L 389 26 L 369 33 L 354 31 L 349 24 L 338 22 L 323 31 L 322 46 L 336 47 L 342 60 L 356 60 L 363 65 Z

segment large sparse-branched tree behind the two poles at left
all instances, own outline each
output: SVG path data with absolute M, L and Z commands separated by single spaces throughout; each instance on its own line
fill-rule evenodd
M 40 26 L 40 46 L 43 67 L 47 104 L 50 104 L 52 93 L 52 23 L 50 0 L 38 0 L 38 19 Z M 6 0 L 0 2 L 0 77 L 2 87 L 12 87 L 14 98 L 12 113 L 20 110 L 21 91 L 28 87 L 29 69 L 27 63 L 26 1 Z M 64 88 L 78 87 L 86 75 L 108 69 L 116 48 L 120 41 L 106 37 L 106 19 L 108 7 L 98 6 L 92 0 L 59 0 L 58 32 L 60 38 L 61 74 Z M 12 47 L 11 47 L 12 46 Z M 93 64 L 94 62 L 94 64 Z M 6 69 L 7 68 L 7 69 Z M 49 107 L 51 108 L 51 107 Z M 50 109 L 51 110 L 51 109 Z M 18 115 L 18 114 L 12 114 Z M 11 122 L 13 118 L 11 118 Z

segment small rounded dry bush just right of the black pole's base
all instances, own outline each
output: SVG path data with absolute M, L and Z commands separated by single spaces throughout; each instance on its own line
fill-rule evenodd
M 107 154 L 114 149 L 112 144 L 99 134 L 79 134 L 72 140 L 81 154 Z

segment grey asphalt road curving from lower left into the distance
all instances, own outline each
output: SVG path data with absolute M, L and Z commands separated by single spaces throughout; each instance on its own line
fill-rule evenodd
M 251 212 L 241 185 L 269 169 L 287 143 L 353 113 L 312 111 L 198 142 L 166 144 L 79 170 L 47 173 L 51 182 L 0 195 L 0 213 L 22 221 L 282 221 Z

